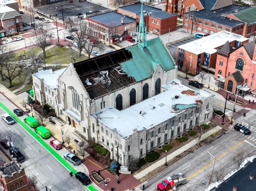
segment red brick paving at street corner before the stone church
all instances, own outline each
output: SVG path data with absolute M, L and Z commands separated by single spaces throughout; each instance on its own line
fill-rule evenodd
M 88 168 L 89 174 L 91 174 L 92 171 L 96 170 L 102 170 L 104 169 L 102 165 L 100 165 L 96 160 L 94 160 L 91 156 L 86 157 L 86 160 L 83 162 L 84 165 Z M 100 172 L 100 175 L 103 177 L 103 179 L 109 179 L 108 186 L 105 186 L 104 181 L 98 184 L 93 177 L 90 177 L 91 180 L 101 189 L 105 191 L 110 191 L 111 186 L 114 187 L 115 191 L 125 191 L 125 190 L 132 190 L 141 182 L 133 177 L 133 175 L 120 175 L 120 184 L 117 184 L 117 176 L 115 174 L 111 174 L 108 170 L 103 170 Z

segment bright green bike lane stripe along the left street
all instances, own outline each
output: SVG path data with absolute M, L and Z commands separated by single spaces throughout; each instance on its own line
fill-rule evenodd
M 19 123 L 20 126 L 22 126 L 34 139 L 36 139 L 47 151 L 50 152 L 50 154 L 52 154 L 63 166 L 65 166 L 65 168 L 67 168 L 67 170 L 71 171 L 73 174 L 77 173 L 77 170 L 73 168 L 72 165 L 70 165 L 70 163 L 68 163 L 64 158 L 62 158 L 62 156 L 60 156 L 60 154 L 58 154 L 55 149 L 53 149 L 52 147 L 50 147 L 49 144 L 47 144 L 45 141 L 43 141 L 43 139 L 41 139 L 41 137 L 38 136 L 38 134 L 36 134 L 34 131 L 31 130 L 30 127 L 28 127 L 21 119 L 19 119 L 19 117 L 17 117 L 10 109 L 8 109 L 2 102 L 0 102 L 0 107 L 2 107 L 3 110 L 5 110 L 5 112 L 7 112 L 8 114 L 10 114 L 10 116 L 12 116 L 12 118 Z M 90 191 L 98 191 L 98 189 L 96 189 L 96 187 L 93 184 L 89 184 L 88 186 L 86 186 L 87 189 L 89 189 Z

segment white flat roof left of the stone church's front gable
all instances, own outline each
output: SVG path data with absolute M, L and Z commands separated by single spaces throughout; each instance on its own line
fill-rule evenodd
M 40 70 L 33 74 L 38 79 L 43 79 L 43 82 L 50 86 L 52 89 L 57 88 L 57 79 L 58 77 L 65 71 L 66 68 L 62 68 L 60 70 L 56 70 L 53 72 L 52 69 L 50 70 Z

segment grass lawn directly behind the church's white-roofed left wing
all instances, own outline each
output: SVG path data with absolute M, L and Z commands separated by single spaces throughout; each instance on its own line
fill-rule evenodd
M 74 51 L 76 57 L 78 57 L 79 52 Z M 88 57 L 82 55 L 80 58 L 76 59 L 76 62 L 83 61 L 88 59 Z M 43 60 L 43 59 L 42 59 Z M 53 47 L 46 51 L 46 64 L 69 64 L 71 63 L 71 54 L 70 50 L 66 47 Z

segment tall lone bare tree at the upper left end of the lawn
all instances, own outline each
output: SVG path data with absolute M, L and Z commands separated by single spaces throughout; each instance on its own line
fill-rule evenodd
M 50 35 L 48 26 L 41 22 L 38 24 L 38 27 L 33 30 L 33 33 L 36 35 L 36 43 L 34 45 L 43 50 L 43 58 L 46 58 L 45 48 Z

